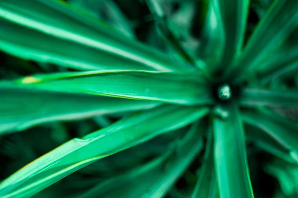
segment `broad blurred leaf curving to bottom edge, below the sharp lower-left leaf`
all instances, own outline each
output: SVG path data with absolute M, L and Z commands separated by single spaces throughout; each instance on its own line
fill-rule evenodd
M 96 185 L 79 198 L 161 198 L 166 195 L 203 148 L 202 124 L 196 122 L 186 135 L 161 157 L 128 173 Z M 200 131 L 199 131 L 200 130 Z M 142 184 L 140 186 L 140 184 Z

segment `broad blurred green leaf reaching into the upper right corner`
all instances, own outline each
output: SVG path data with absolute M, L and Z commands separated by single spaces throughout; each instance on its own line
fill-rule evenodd
M 275 0 L 251 35 L 239 62 L 235 64 L 236 80 L 247 76 L 278 49 L 298 26 L 298 1 Z M 231 72 L 230 72 L 231 73 Z

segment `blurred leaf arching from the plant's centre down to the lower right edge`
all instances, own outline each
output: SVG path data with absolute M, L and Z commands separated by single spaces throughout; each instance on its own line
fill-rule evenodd
M 262 129 L 290 151 L 291 157 L 298 163 L 298 126 L 287 118 L 272 111 L 260 109 L 247 110 L 243 113 L 243 120 Z

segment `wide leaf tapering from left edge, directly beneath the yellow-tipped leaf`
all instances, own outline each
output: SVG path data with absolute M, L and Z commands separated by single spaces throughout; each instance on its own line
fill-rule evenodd
M 160 102 L 0 86 L 0 134 L 56 120 L 153 108 Z

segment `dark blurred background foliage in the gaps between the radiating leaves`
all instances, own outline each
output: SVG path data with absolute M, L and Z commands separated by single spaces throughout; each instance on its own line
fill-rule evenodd
M 171 34 L 191 56 L 204 56 L 201 57 L 204 59 L 217 56 L 217 51 L 213 50 L 217 47 L 216 39 L 212 39 L 213 43 L 208 41 L 217 35 L 216 24 L 213 23 L 215 16 L 209 0 L 158 0 L 164 10 L 162 13 L 152 12 L 155 9 L 150 9 L 146 0 L 64 1 L 75 9 L 116 29 L 126 37 L 139 40 L 175 56 L 175 52 L 168 47 L 166 39 L 162 39 L 160 34 L 160 31 L 163 31 L 160 24 L 164 23 L 159 21 L 165 20 Z M 271 0 L 251 0 L 245 41 L 270 4 Z M 291 39 L 298 39 L 296 33 L 297 31 Z M 212 56 L 210 52 L 215 54 Z M 214 60 L 211 58 L 207 62 Z M 22 60 L 0 52 L 0 78 L 2 80 L 35 73 L 62 71 L 74 70 L 54 64 Z M 297 72 L 291 76 L 285 76 L 272 86 L 279 86 L 282 89 L 297 88 Z M 297 120 L 298 118 L 298 111 L 295 109 L 277 108 L 275 110 L 291 119 Z M 128 113 L 90 117 L 72 122 L 51 122 L 19 133 L 0 136 L 0 180 L 7 178 L 24 165 L 66 141 L 103 128 Z M 34 197 L 130 198 L 133 195 L 129 192 L 130 189 L 149 188 L 146 186 L 146 181 L 150 178 L 144 173 L 152 173 L 149 174 L 150 177 L 156 178 L 166 170 L 165 161 L 175 160 L 173 156 L 177 153 L 177 148 L 175 149 L 174 145 L 183 139 L 184 132 L 185 128 L 166 133 L 136 147 L 103 158 L 74 172 Z M 203 148 L 206 142 L 203 141 L 201 144 Z M 249 142 L 249 138 L 247 153 L 256 198 L 298 197 L 297 166 L 271 156 L 259 145 Z M 201 167 L 203 156 L 204 150 L 202 149 L 187 170 L 177 175 L 179 179 L 168 191 L 166 198 L 186 198 L 191 195 L 201 171 L 197 167 Z M 117 191 L 114 191 L 115 189 Z M 119 192 L 121 192 L 120 195 Z M 134 193 L 138 195 L 137 192 Z

